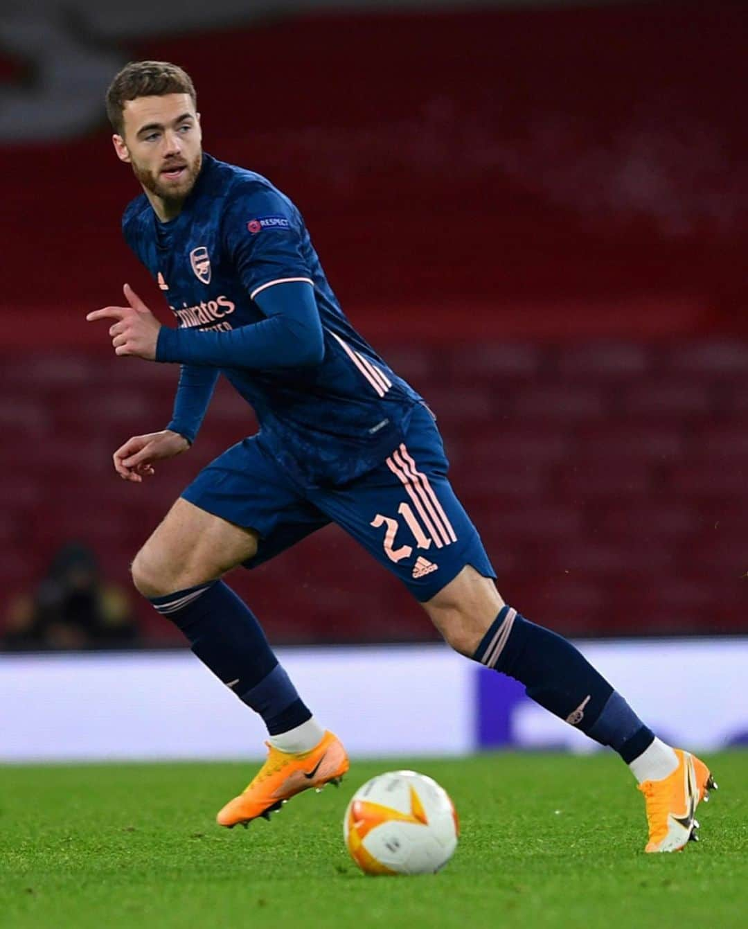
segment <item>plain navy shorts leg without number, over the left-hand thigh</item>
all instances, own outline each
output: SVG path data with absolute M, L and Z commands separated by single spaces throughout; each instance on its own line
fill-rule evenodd
M 305 499 L 258 437 L 237 442 L 206 465 L 181 500 L 252 538 L 254 545 L 236 546 L 230 567 L 255 568 L 330 521 Z

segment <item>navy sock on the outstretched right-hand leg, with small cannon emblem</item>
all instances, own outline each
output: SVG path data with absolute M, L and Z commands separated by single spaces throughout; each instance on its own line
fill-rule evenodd
M 590 739 L 610 745 L 628 764 L 654 733 L 565 638 L 504 607 L 473 658 L 516 678 L 528 697 Z

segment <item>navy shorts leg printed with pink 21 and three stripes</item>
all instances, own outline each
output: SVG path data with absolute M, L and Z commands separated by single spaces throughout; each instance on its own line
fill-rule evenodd
M 466 567 L 494 578 L 491 562 L 447 478 L 449 464 L 426 408 L 387 461 L 313 500 L 417 600 L 431 600 Z

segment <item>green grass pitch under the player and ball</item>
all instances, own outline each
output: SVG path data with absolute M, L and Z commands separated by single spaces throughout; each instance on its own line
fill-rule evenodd
M 0 925 L 75 929 L 748 925 L 748 752 L 707 755 L 701 842 L 645 856 L 643 800 L 612 754 L 356 762 L 270 822 L 222 830 L 256 765 L 0 768 Z M 371 878 L 348 858 L 352 792 L 413 767 L 462 823 L 437 875 Z

